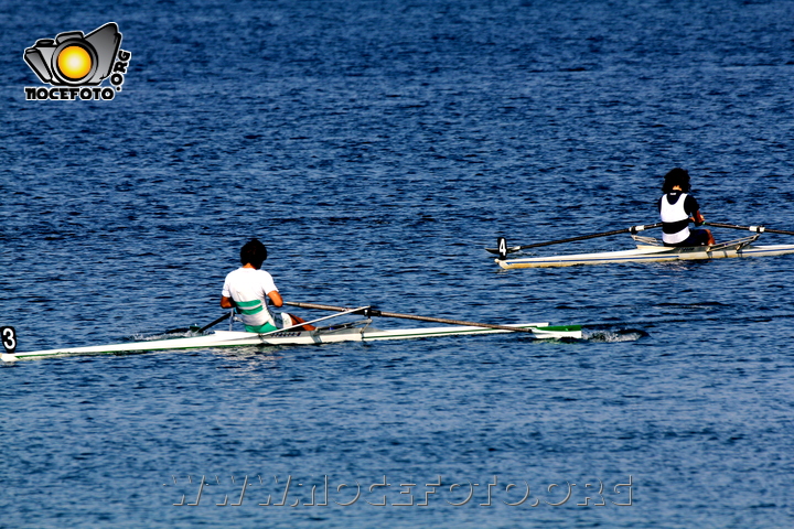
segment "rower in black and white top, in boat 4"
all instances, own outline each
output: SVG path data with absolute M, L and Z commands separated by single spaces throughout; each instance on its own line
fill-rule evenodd
M 665 246 L 712 246 L 713 236 L 708 229 L 689 229 L 689 223 L 701 226 L 706 219 L 700 206 L 689 194 L 689 173 L 675 168 L 665 175 L 658 201 L 662 217 L 662 240 Z

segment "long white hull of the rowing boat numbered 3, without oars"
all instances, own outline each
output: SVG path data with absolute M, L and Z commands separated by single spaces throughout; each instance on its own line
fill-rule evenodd
M 581 338 L 578 325 L 549 327 L 548 323 L 527 323 L 507 325 L 529 328 L 536 338 Z M 216 347 L 315 345 L 339 342 L 374 342 L 383 339 L 429 338 L 437 336 L 458 336 L 468 334 L 500 334 L 511 331 L 474 326 L 419 327 L 379 331 L 372 327 L 322 328 L 318 331 L 286 331 L 270 334 L 256 334 L 239 331 L 216 331 L 213 334 L 196 337 L 131 342 L 124 344 L 72 347 L 63 349 L 34 350 L 29 353 L 3 354 L 2 360 L 14 361 L 26 358 L 42 358 L 65 355 L 98 355 L 112 353 L 141 353 L 151 350 L 206 349 Z

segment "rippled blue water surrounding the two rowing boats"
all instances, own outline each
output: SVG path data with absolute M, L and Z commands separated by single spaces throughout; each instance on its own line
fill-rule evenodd
M 792 257 L 500 271 L 483 250 L 655 222 L 673 166 L 709 220 L 794 229 L 791 2 L 3 7 L 21 350 L 210 322 L 250 236 L 291 301 L 586 339 L 3 365 L 0 527 L 792 525 Z M 112 101 L 24 100 L 25 47 L 108 21 L 132 54 Z

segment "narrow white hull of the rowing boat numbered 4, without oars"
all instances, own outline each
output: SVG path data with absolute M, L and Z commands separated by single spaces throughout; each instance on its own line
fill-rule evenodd
M 572 267 L 578 264 L 611 264 L 635 262 L 665 262 L 725 259 L 734 257 L 769 257 L 794 253 L 794 245 L 745 246 L 705 250 L 704 247 L 669 248 L 663 246 L 637 246 L 635 250 L 577 253 L 569 256 L 528 257 L 524 259 L 495 259 L 505 270 L 516 268 Z

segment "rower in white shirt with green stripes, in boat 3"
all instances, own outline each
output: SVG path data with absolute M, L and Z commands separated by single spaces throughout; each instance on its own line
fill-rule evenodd
M 240 249 L 240 264 L 243 267 L 229 272 L 221 293 L 221 306 L 236 307 L 240 321 L 249 333 L 269 333 L 283 327 L 290 327 L 304 320 L 287 314 L 276 314 L 273 306 L 283 306 L 276 283 L 265 270 L 260 270 L 267 259 L 267 248 L 258 239 L 251 239 Z M 312 325 L 303 325 L 304 331 L 313 331 Z

